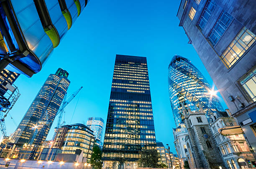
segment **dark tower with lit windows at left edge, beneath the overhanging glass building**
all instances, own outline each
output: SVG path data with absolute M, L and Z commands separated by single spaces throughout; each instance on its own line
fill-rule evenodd
M 0 73 L 0 95 L 3 96 L 8 91 L 8 88 L 6 85 L 13 85 L 13 83 L 18 77 L 19 77 L 18 73 L 11 72 L 7 69 L 4 69 Z

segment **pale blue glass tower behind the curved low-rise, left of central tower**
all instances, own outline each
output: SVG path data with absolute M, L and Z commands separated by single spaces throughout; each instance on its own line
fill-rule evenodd
M 86 125 L 93 131 L 95 143 L 98 146 L 102 146 L 101 139 L 104 128 L 104 120 L 101 117 L 88 117 Z

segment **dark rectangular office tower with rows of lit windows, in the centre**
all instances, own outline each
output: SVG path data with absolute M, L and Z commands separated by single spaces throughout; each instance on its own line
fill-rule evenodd
M 103 168 L 124 157 L 135 169 L 142 149 L 156 149 L 146 57 L 116 55 L 102 151 Z

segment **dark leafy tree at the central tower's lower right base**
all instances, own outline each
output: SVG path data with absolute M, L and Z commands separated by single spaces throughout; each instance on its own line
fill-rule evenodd
M 138 165 L 140 167 L 157 168 L 159 166 L 158 159 L 160 156 L 156 149 L 145 149 L 139 153 L 141 155 L 140 159 L 138 160 Z

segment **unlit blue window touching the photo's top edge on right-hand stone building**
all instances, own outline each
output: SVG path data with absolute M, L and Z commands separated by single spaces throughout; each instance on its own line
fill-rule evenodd
M 210 19 L 210 16 L 212 15 L 212 12 L 215 8 L 216 4 L 213 2 L 213 0 L 208 0 L 204 11 L 202 12 L 202 16 L 198 22 L 198 27 L 203 30 L 205 28 L 206 23 Z

